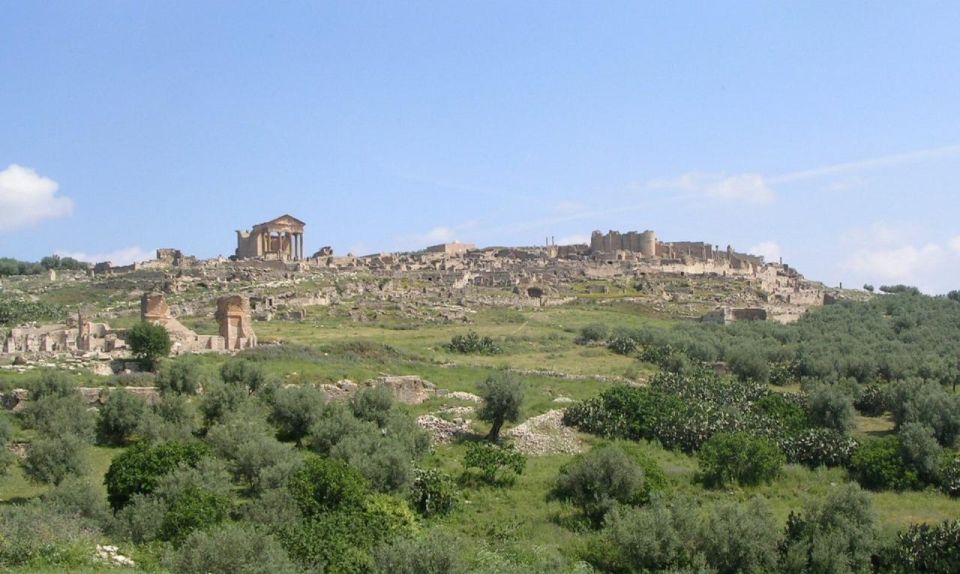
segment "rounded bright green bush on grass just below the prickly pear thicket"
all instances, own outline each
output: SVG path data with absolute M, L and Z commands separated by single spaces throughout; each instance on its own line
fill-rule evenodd
M 780 474 L 785 462 L 775 444 L 743 432 L 714 435 L 704 443 L 697 460 L 700 478 L 708 486 L 770 482 Z

